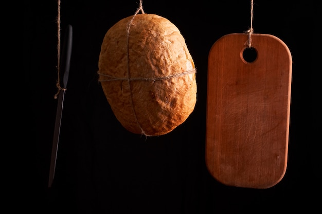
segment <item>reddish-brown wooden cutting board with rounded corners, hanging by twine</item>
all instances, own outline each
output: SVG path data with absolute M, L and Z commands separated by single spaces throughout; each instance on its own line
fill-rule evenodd
M 227 34 L 209 51 L 206 165 L 225 185 L 269 188 L 287 168 L 292 57 L 276 36 L 252 34 L 246 62 L 247 40 Z

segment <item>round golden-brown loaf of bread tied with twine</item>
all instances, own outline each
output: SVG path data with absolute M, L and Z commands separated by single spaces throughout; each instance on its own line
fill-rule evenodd
M 184 37 L 166 18 L 136 14 L 106 32 L 99 81 L 128 131 L 163 135 L 182 124 L 196 103 L 195 68 Z

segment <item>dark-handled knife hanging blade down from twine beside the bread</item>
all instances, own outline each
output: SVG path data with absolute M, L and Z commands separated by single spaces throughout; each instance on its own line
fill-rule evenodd
M 68 82 L 72 46 L 73 46 L 73 27 L 71 27 L 71 25 L 67 25 L 66 34 L 64 36 L 64 41 L 63 41 L 62 55 L 61 55 L 60 65 L 59 65 L 60 76 L 62 76 L 63 78 L 62 78 L 62 81 L 60 78 L 60 85 L 62 86 L 62 89 L 60 90 L 58 95 L 55 129 L 53 132 L 53 141 L 52 141 L 52 149 L 51 149 L 48 187 L 51 187 L 53 179 L 55 177 L 60 126 L 61 126 L 61 120 L 62 120 L 64 96 L 65 96 L 67 82 Z

